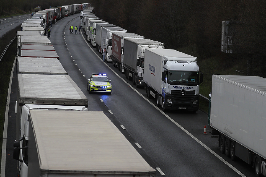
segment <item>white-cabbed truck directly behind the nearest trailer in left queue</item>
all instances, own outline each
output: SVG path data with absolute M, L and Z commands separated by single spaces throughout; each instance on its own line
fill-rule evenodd
M 41 66 L 41 64 L 40 64 Z M 25 157 L 29 140 L 28 116 L 32 109 L 88 110 L 88 99 L 68 75 L 61 75 L 60 67 L 38 67 L 28 65 L 26 74 L 18 74 L 16 101 L 16 140 L 19 141 L 18 175 L 28 176 L 28 159 Z M 20 66 L 18 66 L 20 67 Z M 32 69 L 31 69 L 32 68 Z M 43 74 L 45 73 L 45 74 Z

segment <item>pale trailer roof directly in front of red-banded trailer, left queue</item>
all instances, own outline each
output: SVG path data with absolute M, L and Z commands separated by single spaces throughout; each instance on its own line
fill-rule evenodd
M 18 73 L 68 74 L 57 58 L 17 57 Z

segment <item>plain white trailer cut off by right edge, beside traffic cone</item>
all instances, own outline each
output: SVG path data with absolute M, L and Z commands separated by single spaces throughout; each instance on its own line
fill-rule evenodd
M 213 75 L 208 124 L 227 157 L 236 157 L 266 176 L 266 79 Z

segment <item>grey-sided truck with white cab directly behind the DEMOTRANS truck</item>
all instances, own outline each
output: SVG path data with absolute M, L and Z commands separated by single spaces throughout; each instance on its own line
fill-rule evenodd
M 137 87 L 144 86 L 143 70 L 145 49 L 164 49 L 164 44 L 150 39 L 128 39 L 124 40 L 123 70 L 127 79 L 132 79 Z M 122 54 L 121 54 L 122 55 Z

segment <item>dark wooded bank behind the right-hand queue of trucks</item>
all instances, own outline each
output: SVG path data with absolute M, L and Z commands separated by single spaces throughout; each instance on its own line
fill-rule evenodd
M 91 0 L 100 19 L 165 43 L 203 61 L 210 57 L 252 64 L 252 75 L 266 77 L 266 3 L 264 0 Z M 235 24 L 231 48 L 221 52 L 223 21 Z M 222 61 L 223 62 L 223 61 Z M 226 67 L 226 64 L 224 64 Z

